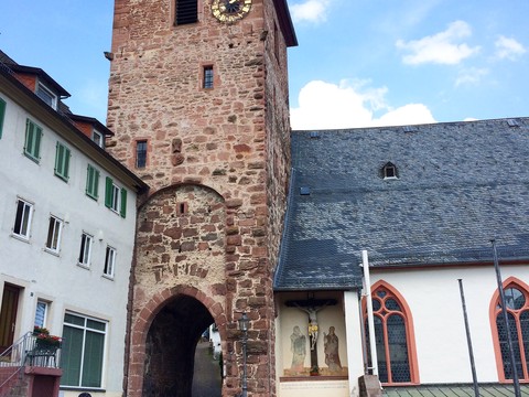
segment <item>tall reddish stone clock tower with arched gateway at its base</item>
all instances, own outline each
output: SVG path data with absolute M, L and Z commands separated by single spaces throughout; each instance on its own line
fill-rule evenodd
M 272 275 L 290 170 L 285 0 L 116 0 L 109 150 L 151 190 L 140 203 L 128 397 L 191 396 L 215 323 L 223 396 L 273 396 Z

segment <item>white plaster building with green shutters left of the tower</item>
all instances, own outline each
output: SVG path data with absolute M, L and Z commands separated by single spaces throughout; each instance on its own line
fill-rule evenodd
M 64 396 L 121 396 L 136 202 L 148 186 L 101 148 L 109 130 L 63 111 L 57 83 L 1 55 L 0 347 L 46 328 L 64 339 Z

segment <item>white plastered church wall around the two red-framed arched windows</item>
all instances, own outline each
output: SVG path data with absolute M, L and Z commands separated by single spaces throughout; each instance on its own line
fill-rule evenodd
M 529 281 L 527 266 L 501 266 L 503 279 Z M 421 384 L 472 383 L 457 279 L 463 280 L 478 382 L 498 382 L 489 305 L 497 290 L 493 266 L 421 268 L 373 272 L 406 299 L 413 318 Z

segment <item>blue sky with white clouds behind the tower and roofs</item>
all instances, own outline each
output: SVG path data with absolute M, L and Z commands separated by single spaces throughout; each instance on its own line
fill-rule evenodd
M 105 122 L 114 1 L 3 2 L 0 49 L 57 81 L 73 112 Z M 528 0 L 288 3 L 293 129 L 529 116 Z

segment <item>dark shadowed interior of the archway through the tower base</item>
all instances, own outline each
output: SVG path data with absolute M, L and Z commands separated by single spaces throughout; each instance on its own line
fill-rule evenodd
M 192 397 L 195 350 L 213 322 L 206 307 L 186 294 L 161 308 L 147 333 L 143 396 Z

